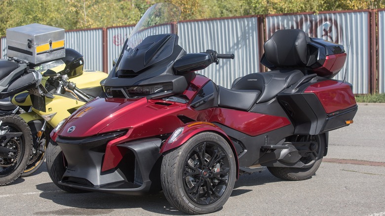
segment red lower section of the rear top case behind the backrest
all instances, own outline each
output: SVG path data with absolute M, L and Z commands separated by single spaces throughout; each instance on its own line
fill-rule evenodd
M 346 53 L 326 56 L 326 60 L 319 68 L 313 69 L 319 76 L 329 76 L 339 72 L 345 65 Z

